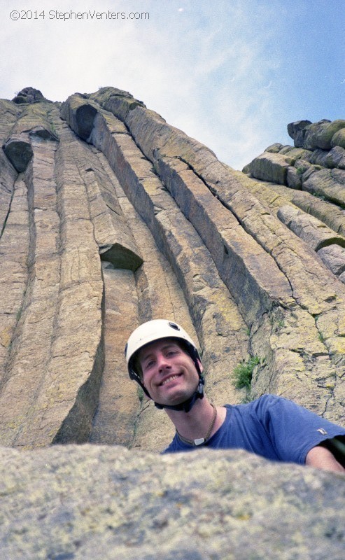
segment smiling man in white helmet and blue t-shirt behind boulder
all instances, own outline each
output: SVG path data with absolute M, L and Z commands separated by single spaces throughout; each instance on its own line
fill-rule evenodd
M 165 453 L 246 449 L 272 461 L 345 472 L 345 428 L 275 395 L 246 405 L 215 407 L 204 396 L 203 367 L 195 343 L 165 319 L 143 323 L 129 337 L 129 377 L 164 409 L 176 427 Z

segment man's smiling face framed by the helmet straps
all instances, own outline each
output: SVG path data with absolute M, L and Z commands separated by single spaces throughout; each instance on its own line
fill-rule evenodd
M 174 339 L 148 344 L 139 352 L 143 384 L 150 397 L 161 405 L 178 405 L 197 388 L 195 363 Z M 202 365 L 200 364 L 202 370 Z

